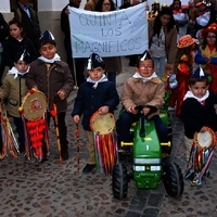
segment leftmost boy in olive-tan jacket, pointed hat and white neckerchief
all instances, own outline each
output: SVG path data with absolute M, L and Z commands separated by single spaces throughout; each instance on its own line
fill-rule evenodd
M 14 59 L 14 66 L 9 71 L 3 85 L 0 88 L 0 99 L 8 98 L 7 111 L 16 126 L 18 133 L 20 152 L 25 151 L 24 127 L 18 107 L 22 104 L 22 98 L 28 92 L 25 85 L 26 76 L 29 71 L 30 55 L 26 50 L 20 51 Z

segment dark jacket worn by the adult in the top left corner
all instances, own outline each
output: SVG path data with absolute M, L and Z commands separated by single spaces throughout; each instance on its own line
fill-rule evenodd
M 29 12 L 30 12 L 30 18 L 29 18 L 26 12 L 20 7 L 18 3 L 17 8 L 12 9 L 12 11 L 14 12 L 14 17 L 22 23 L 26 37 L 29 38 L 33 41 L 34 46 L 37 48 L 41 35 L 37 13 L 29 5 Z

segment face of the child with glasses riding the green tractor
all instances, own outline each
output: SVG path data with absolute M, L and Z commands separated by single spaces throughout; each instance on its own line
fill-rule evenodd
M 154 73 L 152 60 L 140 61 L 136 69 L 142 77 L 150 77 Z

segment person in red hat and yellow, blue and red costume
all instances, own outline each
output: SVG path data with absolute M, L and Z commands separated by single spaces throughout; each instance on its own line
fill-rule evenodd
M 209 90 L 217 93 L 217 24 L 213 23 L 202 31 L 203 42 L 195 55 L 195 63 L 200 64 L 209 78 Z

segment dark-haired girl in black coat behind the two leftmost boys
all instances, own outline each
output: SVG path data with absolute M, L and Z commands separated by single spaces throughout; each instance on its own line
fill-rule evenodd
M 25 37 L 21 22 L 13 18 L 9 22 L 9 29 L 10 36 L 3 47 L 5 65 L 12 68 L 15 55 L 22 49 L 25 49 L 30 54 L 30 62 L 35 61 L 38 58 L 37 51 L 30 39 Z

